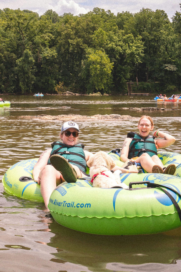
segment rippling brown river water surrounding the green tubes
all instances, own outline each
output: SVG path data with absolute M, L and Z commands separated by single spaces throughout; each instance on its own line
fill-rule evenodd
M 39 157 L 59 139 L 65 117 L 57 120 L 57 115 L 69 115 L 70 120 L 78 123 L 79 141 L 92 152 L 121 147 L 127 132 L 137 131 L 139 117 L 150 115 L 155 129 L 176 138 L 175 144 L 165 150 L 181 153 L 181 102 L 157 103 L 154 96 L 3 98 L 11 101 L 11 106 L 0 107 L 0 180 L 10 166 L 20 160 Z M 148 107 L 157 110 L 148 110 Z M 114 115 L 114 118 L 90 118 L 98 114 Z M 127 117 L 120 121 L 115 114 Z M 38 115 L 55 118 L 35 118 Z M 0 199 L 0 272 L 181 271 L 181 229 L 156 235 L 90 235 L 70 230 L 45 217 L 43 203 L 8 195 L 2 182 Z

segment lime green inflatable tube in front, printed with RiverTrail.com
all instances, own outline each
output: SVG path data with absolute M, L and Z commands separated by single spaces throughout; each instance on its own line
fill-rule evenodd
M 181 226 L 169 197 L 161 189 L 145 185 L 147 181 L 159 183 L 180 193 L 180 178 L 142 173 L 121 174 L 121 180 L 126 184 L 142 180 L 144 184 L 131 190 L 92 188 L 89 180 L 57 186 L 48 205 L 53 218 L 65 227 L 101 235 L 152 234 Z M 181 207 L 180 196 L 170 193 Z

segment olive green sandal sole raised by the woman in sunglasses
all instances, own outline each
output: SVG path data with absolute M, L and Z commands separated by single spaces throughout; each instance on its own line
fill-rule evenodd
M 50 157 L 50 162 L 52 166 L 62 174 L 66 182 L 71 183 L 77 181 L 77 173 L 75 169 L 64 157 L 60 155 L 52 155 Z

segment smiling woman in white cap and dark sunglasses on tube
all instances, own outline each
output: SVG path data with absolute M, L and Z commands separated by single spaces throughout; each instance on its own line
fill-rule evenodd
M 84 146 L 77 144 L 78 134 L 79 128 L 75 122 L 65 122 L 60 133 L 62 143 L 54 142 L 52 148 L 41 154 L 33 168 L 33 178 L 41 184 L 46 207 L 56 186 L 64 181 L 76 182 L 78 177 L 87 176 L 86 162 L 92 153 L 84 151 Z

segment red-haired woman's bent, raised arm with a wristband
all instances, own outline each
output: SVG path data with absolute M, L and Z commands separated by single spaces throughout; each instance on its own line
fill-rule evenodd
M 154 136 L 155 144 L 157 144 L 158 148 L 168 147 L 175 142 L 175 138 L 173 136 L 163 131 L 157 130 L 156 133 L 154 133 Z

